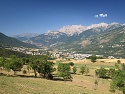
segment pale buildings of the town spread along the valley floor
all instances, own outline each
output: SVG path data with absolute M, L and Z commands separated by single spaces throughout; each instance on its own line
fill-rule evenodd
M 24 47 L 13 47 L 11 48 L 13 51 L 19 51 L 25 54 L 31 54 L 31 55 L 50 55 L 52 58 L 65 58 L 65 59 L 75 59 L 75 60 L 82 60 L 86 59 L 92 54 L 78 54 L 76 52 L 68 52 L 66 50 L 62 51 L 54 51 L 48 49 L 34 49 L 34 48 L 24 48 Z M 97 57 L 104 57 L 103 55 L 96 55 Z M 108 58 L 114 58 L 113 56 L 109 56 Z

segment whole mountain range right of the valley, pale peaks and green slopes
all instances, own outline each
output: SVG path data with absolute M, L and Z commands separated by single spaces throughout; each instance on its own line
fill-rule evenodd
M 29 33 L 15 38 L 37 47 L 125 57 L 125 24 L 116 22 L 63 26 L 59 30 L 49 30 L 44 34 L 32 36 Z

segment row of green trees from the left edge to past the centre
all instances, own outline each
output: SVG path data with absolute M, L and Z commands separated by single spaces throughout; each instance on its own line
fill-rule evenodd
M 27 69 L 23 69 L 23 65 L 26 65 Z M 35 78 L 37 77 L 37 74 L 39 74 L 41 78 L 47 79 L 53 79 L 53 75 L 51 73 L 56 70 L 56 68 L 54 68 L 54 63 L 49 61 L 48 56 L 31 56 L 30 58 L 19 58 L 15 55 L 11 55 L 10 58 L 1 57 L 0 67 L 7 70 L 8 72 L 13 70 L 14 75 L 17 75 L 18 71 L 23 71 L 24 74 L 27 72 L 30 74 L 30 70 L 33 70 Z M 57 75 L 62 77 L 64 81 L 72 80 L 71 68 L 73 73 L 76 74 L 77 68 L 74 66 L 73 62 L 59 63 Z M 82 66 L 80 68 L 80 73 L 82 75 L 86 73 L 87 75 L 89 73 L 89 68 Z

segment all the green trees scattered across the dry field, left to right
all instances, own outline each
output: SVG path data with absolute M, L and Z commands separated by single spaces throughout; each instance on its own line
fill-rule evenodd
M 21 71 L 23 65 L 27 66 L 27 70 L 34 71 L 34 77 L 37 77 L 37 74 L 42 78 L 53 79 L 51 74 L 56 69 L 54 68 L 54 63 L 49 61 L 48 56 L 31 56 L 30 58 L 19 58 L 15 55 L 10 56 L 10 58 L 1 57 L 0 58 L 0 67 L 6 69 L 7 71 L 13 70 L 14 75 L 17 74 L 17 71 Z M 125 94 L 125 64 L 121 61 L 117 61 L 115 64 L 115 69 L 105 69 L 100 68 L 95 70 L 95 74 L 99 78 L 110 78 L 111 82 L 111 91 L 115 92 L 115 89 L 119 89 Z M 71 80 L 71 68 L 73 73 L 76 74 L 77 68 L 74 66 L 73 62 L 69 63 L 59 63 L 58 64 L 58 76 L 62 77 L 64 81 Z M 26 73 L 26 70 L 23 71 Z M 29 72 L 30 73 L 30 72 Z M 87 75 L 89 73 L 89 68 L 85 66 L 80 67 L 80 73 Z M 95 82 L 96 83 L 96 82 Z

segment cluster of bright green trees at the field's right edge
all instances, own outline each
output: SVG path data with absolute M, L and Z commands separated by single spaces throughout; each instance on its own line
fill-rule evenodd
M 125 94 L 125 64 L 118 60 L 115 66 L 115 69 L 105 69 L 101 67 L 95 70 L 95 74 L 100 78 L 112 79 L 110 85 L 111 92 L 115 92 L 115 89 L 118 89 Z

